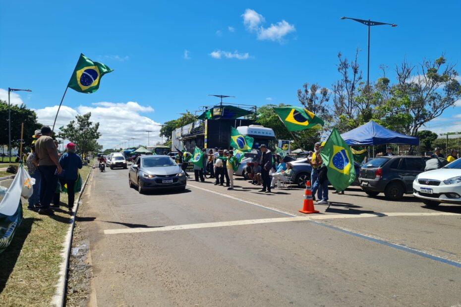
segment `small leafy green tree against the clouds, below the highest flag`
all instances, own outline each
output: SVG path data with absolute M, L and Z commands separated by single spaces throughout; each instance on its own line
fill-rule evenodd
M 59 138 L 75 143 L 77 149 L 82 153 L 98 152 L 102 146 L 98 144 L 101 133 L 98 132 L 99 123 L 90 121 L 91 112 L 75 116 L 67 126 L 59 133 Z

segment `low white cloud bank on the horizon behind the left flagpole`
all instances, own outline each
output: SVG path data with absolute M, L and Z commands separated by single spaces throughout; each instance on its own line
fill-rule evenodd
M 38 121 L 44 125 L 53 125 L 58 106 L 49 106 L 35 110 Z M 135 138 L 134 145 L 147 145 L 147 132 L 149 134 L 150 145 L 160 141 L 159 131 L 160 124 L 150 119 L 142 113 L 153 112 L 151 106 L 143 106 L 137 102 L 114 103 L 114 102 L 96 102 L 91 106 L 80 105 L 76 108 L 71 108 L 62 105 L 59 110 L 58 119 L 55 126 L 55 131 L 59 127 L 67 125 L 71 120 L 75 119 L 77 114 L 85 114 L 91 112 L 91 121 L 99 122 L 99 131 L 102 136 L 98 140 L 105 149 L 114 148 L 116 145 L 123 142 L 128 143 L 128 139 Z M 133 140 L 130 141 L 132 146 Z

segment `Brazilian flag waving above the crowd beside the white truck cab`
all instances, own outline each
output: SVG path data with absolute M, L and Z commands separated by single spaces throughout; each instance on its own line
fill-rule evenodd
M 317 124 L 322 126 L 325 124 L 314 113 L 302 107 L 281 106 L 275 107 L 274 111 L 279 115 L 285 126 L 287 126 L 288 131 L 299 131 L 312 128 Z

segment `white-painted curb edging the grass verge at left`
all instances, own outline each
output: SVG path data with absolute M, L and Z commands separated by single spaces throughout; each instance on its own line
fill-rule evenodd
M 70 248 L 72 247 L 72 236 L 73 236 L 74 225 L 75 225 L 75 216 L 77 214 L 78 204 L 80 203 L 80 198 L 83 195 L 83 191 L 85 190 L 88 179 L 90 178 L 91 172 L 93 171 L 94 164 L 95 162 L 93 162 L 93 164 L 90 166 L 91 169 L 88 173 L 88 176 L 86 177 L 85 182 L 82 185 L 82 189 L 80 190 L 80 194 L 78 195 L 78 198 L 74 202 L 74 209 L 72 211 L 72 216 L 70 217 L 70 221 L 69 221 L 70 227 L 65 236 L 63 251 L 61 253 L 63 260 L 61 264 L 59 265 L 59 280 L 58 280 L 58 283 L 56 284 L 56 293 L 51 301 L 51 304 L 56 307 L 64 306 L 65 286 L 67 284 L 67 279 L 66 279 L 67 268 L 69 266 Z

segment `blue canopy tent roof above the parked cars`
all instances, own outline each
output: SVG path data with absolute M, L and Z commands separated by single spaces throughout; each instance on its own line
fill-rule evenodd
M 372 146 L 385 144 L 419 145 L 419 139 L 409 137 L 370 120 L 368 123 L 345 132 L 341 135 L 349 146 Z

